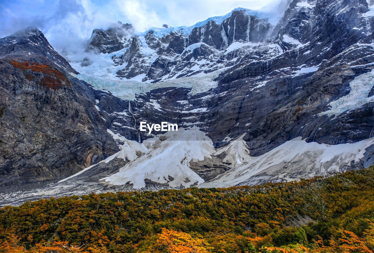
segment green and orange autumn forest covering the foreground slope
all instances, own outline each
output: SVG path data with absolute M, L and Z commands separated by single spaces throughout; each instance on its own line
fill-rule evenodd
M 0 252 L 374 253 L 374 167 L 299 182 L 91 193 L 0 210 Z

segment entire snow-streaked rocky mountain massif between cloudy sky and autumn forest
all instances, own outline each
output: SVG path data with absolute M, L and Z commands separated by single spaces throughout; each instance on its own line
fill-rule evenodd
M 9 136 L 2 152 L 11 154 L 2 163 L 3 185 L 52 182 L 31 191 L 13 187 L 1 194 L 3 203 L 91 191 L 255 185 L 367 168 L 374 152 L 373 4 L 293 0 L 279 17 L 238 8 L 190 28 L 165 25 L 140 34 L 119 23 L 95 29 L 81 61 L 70 63 L 40 31 L 1 39 L 1 75 L 20 76 L 13 88 L 3 81 L 17 106 L 6 106 L 1 124 L 20 122 L 1 135 Z M 13 65 L 12 57 L 18 59 Z M 43 86 L 47 76 L 27 79 L 43 74 L 36 63 L 63 74 L 49 77 L 71 99 L 34 110 L 19 104 L 41 103 L 30 82 L 52 97 L 62 92 Z M 21 91 L 28 97 L 17 97 Z M 66 107 L 56 106 L 60 100 Z M 12 116 L 25 112 L 49 112 L 42 122 L 56 123 L 39 127 L 37 116 L 24 123 Z M 149 134 L 140 122 L 179 129 Z M 40 149 L 33 138 L 44 133 L 56 137 Z M 23 139 L 9 144 L 17 134 Z M 27 138 L 37 147 L 32 155 L 15 149 Z M 38 160 L 41 152 L 46 155 Z M 27 168 L 19 165 L 22 157 L 30 157 L 31 174 L 16 171 Z M 36 161 L 54 166 L 45 169 L 48 177 L 35 179 Z

